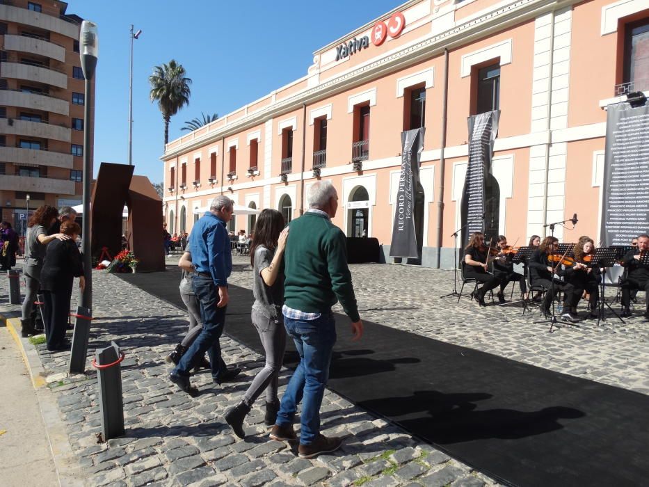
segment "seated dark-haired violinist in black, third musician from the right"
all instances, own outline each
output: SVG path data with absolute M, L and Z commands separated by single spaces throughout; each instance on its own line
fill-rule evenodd
M 558 290 L 563 291 L 563 308 L 570 310 L 572 304 L 572 292 L 574 287 L 568 282 L 563 282 L 554 277 L 563 275 L 563 270 L 560 264 L 555 264 L 550 260 L 550 256 L 559 250 L 559 239 L 556 237 L 545 237 L 538 246 L 538 250 L 534 250 L 532 255 L 529 256 L 529 277 L 531 285 L 540 286 L 546 289 L 545 299 L 541 305 L 541 311 L 547 316 L 550 314 L 550 305 L 554 299 L 554 292 Z M 561 257 L 561 255 L 559 255 Z M 554 286 L 552 283 L 554 282 Z M 570 319 L 577 319 L 572 317 L 570 312 L 567 313 Z

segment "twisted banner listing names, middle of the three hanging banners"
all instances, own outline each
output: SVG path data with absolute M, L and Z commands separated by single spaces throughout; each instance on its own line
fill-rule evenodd
M 460 206 L 462 248 L 470 234 L 484 232 L 485 178 L 491 170 L 493 144 L 498 133 L 500 111 L 487 111 L 467 118 L 469 125 L 469 163 Z

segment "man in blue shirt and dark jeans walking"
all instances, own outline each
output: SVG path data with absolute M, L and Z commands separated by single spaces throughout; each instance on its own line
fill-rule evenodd
M 209 211 L 198 220 L 189 237 L 191 262 L 196 269 L 193 291 L 200 303 L 203 329 L 169 374 L 170 380 L 192 397 L 198 389 L 189 383 L 189 371 L 195 362 L 207 354 L 214 382 L 232 381 L 241 369 L 227 369 L 221 358 L 219 339 L 225 326 L 227 278 L 232 272 L 232 247 L 225 224 L 232 218 L 233 202 L 227 196 L 217 196 Z

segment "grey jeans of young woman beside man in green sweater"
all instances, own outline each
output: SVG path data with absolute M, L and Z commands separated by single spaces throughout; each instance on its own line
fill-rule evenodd
M 286 349 L 286 330 L 282 319 L 265 317 L 262 313 L 253 310 L 250 314 L 253 325 L 257 328 L 259 338 L 262 340 L 264 352 L 266 353 L 266 365 L 260 370 L 253 383 L 243 394 L 243 402 L 247 406 L 253 406 L 255 399 L 259 397 L 264 389 L 266 390 L 266 402 L 278 404 L 277 390 L 279 386 L 280 369 Z

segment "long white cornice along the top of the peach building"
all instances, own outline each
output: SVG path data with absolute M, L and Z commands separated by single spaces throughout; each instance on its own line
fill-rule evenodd
M 203 145 L 220 141 L 223 137 L 232 136 L 255 125 L 260 125 L 270 118 L 275 118 L 289 111 L 301 108 L 302 104 L 312 104 L 337 93 L 360 86 L 372 79 L 383 77 L 393 71 L 402 70 L 424 59 L 441 54 L 444 49 L 455 49 L 469 42 L 488 37 L 511 26 L 559 8 L 579 3 L 581 0 L 518 0 L 508 3 L 497 10 L 484 13 L 480 17 L 471 17 L 466 22 L 438 34 L 430 34 L 387 52 L 378 59 L 370 60 L 364 65 L 354 67 L 348 72 L 332 77 L 312 88 L 305 88 L 285 99 L 280 99 L 270 106 L 236 120 L 207 134 L 193 138 L 184 144 L 173 147 L 162 157 L 168 161 L 180 154 L 196 150 Z M 406 5 L 406 4 L 404 4 Z M 400 6 L 401 8 L 403 6 Z M 241 109 L 237 110 L 240 111 Z M 178 140 L 178 139 L 176 139 Z M 173 141 L 174 142 L 174 141 Z

